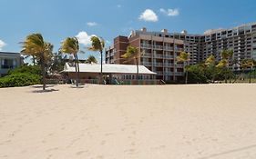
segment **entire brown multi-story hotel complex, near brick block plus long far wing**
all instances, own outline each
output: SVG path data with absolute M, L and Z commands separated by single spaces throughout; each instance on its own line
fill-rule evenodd
M 138 47 L 139 65 L 156 72 L 158 79 L 179 80 L 183 75 L 183 65 L 177 63 L 176 57 L 181 51 L 190 54 L 189 65 L 203 62 L 209 55 L 220 60 L 220 52 L 224 49 L 233 50 L 233 60 L 256 60 L 256 23 L 208 30 L 202 35 L 191 35 L 187 31 L 168 33 L 166 29 L 148 32 L 143 28 L 129 36 L 116 37 L 114 45 L 106 50 L 106 63 L 123 64 L 121 55 L 125 54 L 128 45 Z M 240 64 L 230 64 L 230 67 L 233 70 L 241 69 Z

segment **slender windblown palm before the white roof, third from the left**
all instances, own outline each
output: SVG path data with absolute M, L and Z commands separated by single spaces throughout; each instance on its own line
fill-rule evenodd
M 103 74 L 102 74 L 102 54 L 103 54 L 103 50 L 104 50 L 104 47 L 105 47 L 105 42 L 103 40 L 103 38 L 101 37 L 97 37 L 97 36 L 92 36 L 91 37 L 91 46 L 88 47 L 88 50 L 90 51 L 98 51 L 100 53 L 100 82 L 99 84 L 102 84 L 102 77 L 103 77 Z

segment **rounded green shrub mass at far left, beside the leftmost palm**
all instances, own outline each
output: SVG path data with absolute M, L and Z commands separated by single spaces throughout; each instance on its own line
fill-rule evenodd
M 0 88 L 1 87 L 14 87 L 14 86 L 27 86 L 33 84 L 40 84 L 41 76 L 35 74 L 27 73 L 16 73 L 11 75 L 6 75 L 0 78 Z

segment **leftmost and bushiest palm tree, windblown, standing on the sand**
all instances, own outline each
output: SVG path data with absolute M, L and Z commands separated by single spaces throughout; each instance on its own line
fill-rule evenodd
M 36 57 L 39 62 L 43 75 L 43 90 L 46 90 L 46 62 L 52 57 L 53 45 L 44 41 L 41 34 L 27 35 L 25 42 L 22 43 L 25 55 L 32 55 Z

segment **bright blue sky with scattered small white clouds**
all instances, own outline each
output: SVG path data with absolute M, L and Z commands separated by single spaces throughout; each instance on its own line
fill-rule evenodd
M 67 36 L 78 35 L 83 48 L 90 35 L 109 45 L 143 26 L 201 34 L 256 22 L 255 0 L 1 0 L 0 6 L 0 49 L 7 52 L 19 52 L 31 33 L 44 35 L 56 51 Z

